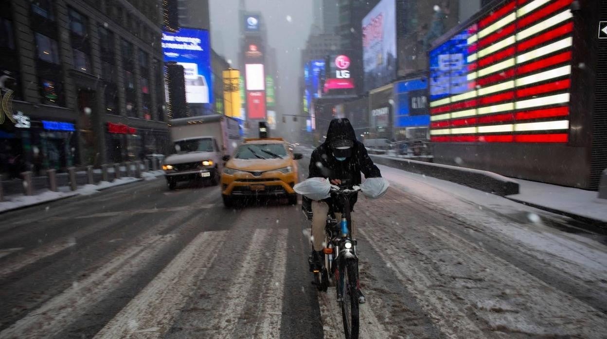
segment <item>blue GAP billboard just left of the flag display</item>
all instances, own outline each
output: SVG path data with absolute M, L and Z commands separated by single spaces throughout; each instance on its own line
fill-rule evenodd
M 394 86 L 394 127 L 423 127 L 430 124 L 428 80 L 409 79 Z

